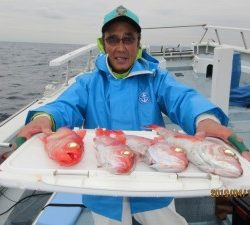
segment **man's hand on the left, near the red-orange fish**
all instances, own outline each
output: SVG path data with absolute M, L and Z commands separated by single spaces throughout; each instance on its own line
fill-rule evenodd
M 51 127 L 52 121 L 48 117 L 39 116 L 24 126 L 17 136 L 29 139 L 37 133 L 50 135 L 52 133 Z

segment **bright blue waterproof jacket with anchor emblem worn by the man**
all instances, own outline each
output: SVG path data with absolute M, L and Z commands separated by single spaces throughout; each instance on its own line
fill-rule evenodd
M 158 61 L 146 52 L 135 61 L 128 77 L 116 79 L 107 66 L 107 55 L 100 54 L 96 69 L 79 76 L 56 101 L 29 112 L 53 116 L 56 128 L 62 126 L 142 130 L 145 125 L 164 126 L 162 113 L 189 134 L 195 133 L 196 117 L 214 114 L 222 124 L 224 113 L 195 90 L 178 83 Z M 130 198 L 131 212 L 167 206 L 172 198 Z M 83 203 L 92 211 L 121 220 L 122 197 L 84 195 Z

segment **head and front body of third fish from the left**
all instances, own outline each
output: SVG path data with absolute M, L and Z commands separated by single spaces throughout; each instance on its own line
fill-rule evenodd
M 160 172 L 179 173 L 188 166 L 185 150 L 166 141 L 151 145 L 143 157 L 143 161 Z

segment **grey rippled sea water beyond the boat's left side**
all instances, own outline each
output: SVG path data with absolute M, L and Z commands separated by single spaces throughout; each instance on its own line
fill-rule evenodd
M 49 67 L 49 61 L 82 45 L 0 42 L 0 121 L 38 99 L 44 87 L 63 81 L 66 66 Z M 83 68 L 86 60 L 74 62 Z

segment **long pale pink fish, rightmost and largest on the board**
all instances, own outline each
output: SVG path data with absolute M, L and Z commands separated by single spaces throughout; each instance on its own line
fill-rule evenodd
M 155 130 L 168 143 L 186 150 L 188 160 L 201 171 L 230 178 L 239 177 L 243 173 L 239 158 L 224 144 L 212 142 L 199 135 L 175 132 L 158 125 L 149 125 L 147 128 Z

